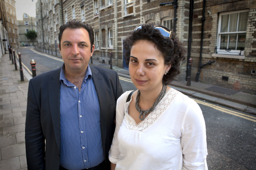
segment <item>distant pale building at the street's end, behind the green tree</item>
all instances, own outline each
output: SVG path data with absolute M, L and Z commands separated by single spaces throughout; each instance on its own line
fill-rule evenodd
M 18 27 L 19 27 L 19 36 L 20 36 L 20 46 L 30 46 L 30 45 L 36 45 L 37 40 L 34 40 L 32 42 L 30 39 L 27 39 L 25 33 L 27 33 L 29 30 L 35 30 L 37 32 L 37 23 L 35 17 L 30 17 L 28 14 L 23 13 L 22 20 L 18 20 Z

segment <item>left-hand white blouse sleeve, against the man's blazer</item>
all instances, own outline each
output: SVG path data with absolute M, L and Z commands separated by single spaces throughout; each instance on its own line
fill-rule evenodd
M 118 161 L 118 155 L 120 154 L 119 148 L 118 148 L 117 134 L 124 119 L 124 104 L 125 104 L 124 96 L 126 93 L 122 94 L 117 99 L 117 102 L 116 102 L 116 129 L 115 129 L 112 145 L 110 147 L 109 154 L 108 154 L 108 159 L 113 164 L 116 164 L 116 162 Z

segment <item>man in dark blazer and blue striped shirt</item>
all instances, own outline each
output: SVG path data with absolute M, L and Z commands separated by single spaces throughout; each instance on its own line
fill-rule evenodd
M 110 169 L 116 100 L 123 93 L 115 71 L 89 66 L 92 27 L 60 26 L 61 68 L 29 81 L 25 141 L 28 170 Z

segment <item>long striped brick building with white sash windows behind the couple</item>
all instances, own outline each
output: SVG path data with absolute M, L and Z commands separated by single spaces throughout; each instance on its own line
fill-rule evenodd
M 111 52 L 112 64 L 126 67 L 124 38 L 141 23 L 161 24 L 187 48 L 193 60 L 192 81 L 256 93 L 253 0 L 38 0 L 36 6 L 42 46 L 58 43 L 63 23 L 82 20 L 95 33 L 93 59 L 108 63 Z M 178 81 L 188 76 L 187 65 L 188 60 L 181 64 Z

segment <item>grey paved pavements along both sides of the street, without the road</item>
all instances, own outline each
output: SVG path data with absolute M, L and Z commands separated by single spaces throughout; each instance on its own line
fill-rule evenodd
M 60 57 L 59 53 L 57 57 Z M 25 119 L 28 81 L 32 76 L 23 69 L 24 81 L 21 81 L 19 60 L 16 62 L 17 71 L 8 52 L 0 57 L 0 170 L 27 169 Z M 92 65 L 110 68 L 98 60 L 93 60 Z M 130 78 L 127 69 L 113 66 L 113 70 Z M 191 86 L 187 86 L 187 81 L 173 81 L 170 86 L 185 95 L 256 115 L 255 94 L 238 91 L 234 95 L 226 95 L 206 90 L 213 86 L 211 84 L 194 81 L 191 81 Z

